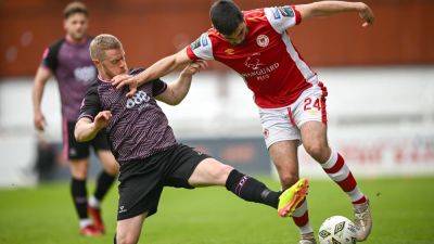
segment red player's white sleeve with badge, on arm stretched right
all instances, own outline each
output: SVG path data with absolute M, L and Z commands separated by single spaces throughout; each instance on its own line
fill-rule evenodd
M 293 5 L 266 8 L 264 12 L 272 28 L 280 34 L 302 22 L 302 15 Z

